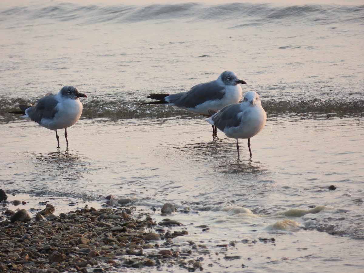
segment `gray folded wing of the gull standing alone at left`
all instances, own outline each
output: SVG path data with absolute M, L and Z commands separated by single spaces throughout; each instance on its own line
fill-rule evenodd
M 52 119 L 54 118 L 57 110 L 55 107 L 58 104 L 58 100 L 56 100 L 55 95 L 49 95 L 43 97 L 37 101 L 35 106 L 29 107 L 26 110 L 29 118 L 40 124 L 43 118 Z

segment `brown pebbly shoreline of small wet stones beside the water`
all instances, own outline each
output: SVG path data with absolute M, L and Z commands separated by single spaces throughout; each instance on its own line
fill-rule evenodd
M 188 234 L 181 223 L 168 218 L 157 223 L 131 205 L 86 205 L 56 215 L 48 203 L 30 217 L 25 209 L 6 209 L 9 201 L 1 203 L 1 272 L 123 272 L 163 266 L 194 272 L 203 270 L 203 258 L 197 256 L 210 253 L 194 242 L 174 244 L 172 238 Z M 165 211 L 172 208 L 164 206 Z

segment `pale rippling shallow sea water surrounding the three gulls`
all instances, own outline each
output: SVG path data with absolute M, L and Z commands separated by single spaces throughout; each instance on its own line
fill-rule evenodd
M 204 256 L 211 272 L 360 272 L 363 6 L 323 2 L 0 6 L 1 188 L 57 213 L 114 194 L 162 219 L 152 209 L 171 202 L 189 230 L 179 239 L 237 240 Z M 226 69 L 268 114 L 251 159 L 205 118 L 140 105 Z M 68 148 L 62 130 L 56 149 L 53 131 L 7 114 L 66 84 L 88 96 Z

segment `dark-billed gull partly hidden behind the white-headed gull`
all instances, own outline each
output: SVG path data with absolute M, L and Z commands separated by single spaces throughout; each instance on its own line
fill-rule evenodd
M 246 84 L 233 71 L 224 71 L 216 80 L 197 84 L 187 92 L 150 94 L 147 98 L 157 101 L 143 104 L 173 105 L 195 114 L 210 116 L 209 109 L 218 111 L 226 105 L 240 102 L 242 90 L 239 83 Z M 216 132 L 214 125 L 212 128 Z

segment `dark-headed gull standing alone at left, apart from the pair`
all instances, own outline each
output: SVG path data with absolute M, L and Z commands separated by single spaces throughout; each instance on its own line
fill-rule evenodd
M 36 102 L 35 106 L 19 105 L 21 111 L 9 113 L 23 114 L 22 118 L 33 120 L 40 126 L 56 131 L 58 148 L 57 129 L 64 129 L 64 137 L 68 146 L 67 128 L 75 124 L 82 114 L 82 103 L 79 101 L 79 97 L 87 98 L 85 94 L 79 93 L 76 87 L 64 86 L 56 95 L 47 93 L 45 97 Z

